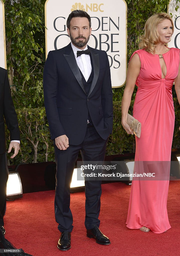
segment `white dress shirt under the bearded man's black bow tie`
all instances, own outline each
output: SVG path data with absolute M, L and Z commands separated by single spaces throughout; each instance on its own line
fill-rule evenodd
M 72 42 L 71 42 L 71 46 L 72 46 L 72 50 L 74 52 L 78 67 L 81 70 L 81 72 L 87 82 L 89 79 L 89 76 L 91 74 L 91 71 L 92 71 L 90 55 L 81 54 L 81 56 L 77 57 L 77 51 L 81 51 L 81 50 L 79 48 L 77 48 L 76 46 L 74 46 L 72 44 Z M 86 48 L 83 51 L 85 51 L 87 49 L 88 49 L 88 46 L 86 46 Z

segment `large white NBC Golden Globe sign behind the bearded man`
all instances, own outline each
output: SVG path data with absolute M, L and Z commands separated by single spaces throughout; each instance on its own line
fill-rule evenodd
M 76 9 L 91 17 L 92 34 L 88 45 L 108 54 L 112 87 L 121 87 L 126 80 L 127 5 L 124 0 L 47 0 L 45 3 L 46 56 L 49 51 L 70 43 L 66 21 Z

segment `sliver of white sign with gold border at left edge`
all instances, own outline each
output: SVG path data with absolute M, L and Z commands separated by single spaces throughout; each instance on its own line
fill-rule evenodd
M 6 69 L 6 37 L 4 3 L 0 0 L 0 67 Z

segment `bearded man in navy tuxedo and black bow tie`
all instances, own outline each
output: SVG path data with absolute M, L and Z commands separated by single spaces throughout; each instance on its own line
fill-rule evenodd
M 56 173 L 55 217 L 61 232 L 60 250 L 71 248 L 70 183 L 79 151 L 83 161 L 104 161 L 112 132 L 113 104 L 108 56 L 87 46 L 90 16 L 73 11 L 67 19 L 71 43 L 50 51 L 44 67 L 44 101 Z M 99 230 L 101 181 L 85 181 L 87 236 L 110 244 Z

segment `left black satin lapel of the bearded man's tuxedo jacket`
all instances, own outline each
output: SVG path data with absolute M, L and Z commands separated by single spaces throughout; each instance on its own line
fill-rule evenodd
M 84 89 L 83 82 L 82 82 L 82 77 L 81 77 L 81 74 L 79 72 L 79 68 L 78 68 L 78 65 L 77 65 L 77 62 L 76 62 L 73 51 L 71 51 L 69 55 L 67 55 L 67 54 L 63 54 L 63 55 L 64 55 L 65 59 L 67 60 L 67 62 L 69 64 L 69 67 L 72 70 L 74 76 L 76 77 L 80 87 L 82 88 L 84 93 L 86 93 L 86 91 Z

